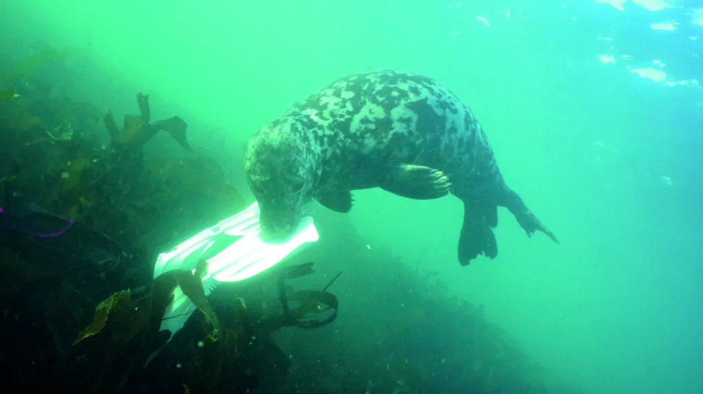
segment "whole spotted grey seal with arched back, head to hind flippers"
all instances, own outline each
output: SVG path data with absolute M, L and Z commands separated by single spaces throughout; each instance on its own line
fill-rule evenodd
M 413 199 L 460 198 L 463 265 L 498 254 L 498 206 L 529 236 L 540 230 L 558 242 L 505 184 L 469 108 L 419 74 L 385 70 L 333 82 L 254 133 L 245 162 L 272 236 L 290 232 L 314 200 L 347 212 L 352 190 L 378 187 Z

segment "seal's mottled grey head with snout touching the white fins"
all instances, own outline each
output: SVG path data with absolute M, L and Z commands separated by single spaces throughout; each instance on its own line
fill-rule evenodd
M 247 183 L 259 202 L 262 232 L 271 239 L 290 235 L 312 209 L 314 152 L 299 131 L 295 122 L 273 122 L 259 129 L 247 147 Z

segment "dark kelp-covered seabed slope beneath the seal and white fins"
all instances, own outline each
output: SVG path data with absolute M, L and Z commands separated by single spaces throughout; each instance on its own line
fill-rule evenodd
M 61 77 L 72 66 L 63 56 L 49 51 L 1 65 L 1 188 L 75 223 L 69 231 L 103 237 L 74 244 L 74 238 L 38 239 L 0 225 L 0 367 L 8 387 L 27 393 L 567 393 L 486 322 L 480 308 L 453 298 L 431 272 L 357 244 L 349 223 L 338 223 L 336 235 L 325 239 L 316 265 L 344 269 L 332 287 L 344 294 L 340 300 L 328 291 L 329 278 L 320 283 L 309 275 L 312 264 L 221 286 L 207 298 L 202 263 L 195 272 L 152 280 L 157 253 L 240 211 L 245 201 L 225 182 L 221 164 L 188 143 L 183 119 L 152 119 L 148 96 L 138 94 L 138 114 L 119 124 L 109 108 L 72 101 Z M 169 135 L 185 155 L 149 152 L 157 133 Z M 0 206 L 8 207 L 14 195 L 4 196 Z M 120 252 L 106 242 L 120 245 Z M 120 256 L 80 257 L 101 247 Z M 293 289 L 298 277 L 307 282 L 296 287 L 314 284 L 314 290 Z M 198 312 L 166 344 L 169 335 L 159 327 L 176 286 Z

